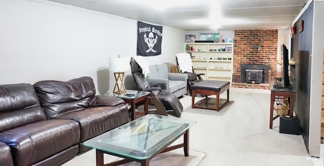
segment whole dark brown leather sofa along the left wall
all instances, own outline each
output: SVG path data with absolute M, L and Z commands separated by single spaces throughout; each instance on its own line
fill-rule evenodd
M 91 77 L 0 86 L 0 142 L 13 164 L 61 165 L 130 120 L 123 100 L 95 94 Z

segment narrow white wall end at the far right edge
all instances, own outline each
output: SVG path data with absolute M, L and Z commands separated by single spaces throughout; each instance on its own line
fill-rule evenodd
M 313 41 L 311 55 L 310 112 L 309 112 L 309 154 L 319 157 L 320 149 L 320 116 L 323 71 L 324 41 L 324 2 L 314 2 Z

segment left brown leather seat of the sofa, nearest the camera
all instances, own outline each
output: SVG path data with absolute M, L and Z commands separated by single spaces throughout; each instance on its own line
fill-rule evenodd
M 78 144 L 80 129 L 73 120 L 42 120 L 0 133 L 11 148 L 15 165 L 32 165 Z

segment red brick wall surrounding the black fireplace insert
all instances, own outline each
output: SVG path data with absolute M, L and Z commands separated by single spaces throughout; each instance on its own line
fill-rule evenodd
M 249 45 L 250 36 L 257 34 L 262 37 L 263 44 L 258 48 L 251 48 Z M 278 30 L 235 30 L 234 35 L 234 61 L 233 61 L 233 75 L 241 74 L 241 64 L 262 64 L 269 66 L 269 82 L 272 82 L 273 77 L 277 75 L 277 42 Z M 251 39 L 253 46 L 260 43 L 258 37 Z M 234 80 L 235 81 L 235 80 Z M 267 89 L 268 85 L 245 85 L 235 84 L 232 87 L 238 88 L 256 88 Z

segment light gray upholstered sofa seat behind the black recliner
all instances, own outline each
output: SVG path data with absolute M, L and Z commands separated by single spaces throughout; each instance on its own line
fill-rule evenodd
M 151 85 L 164 83 L 160 88 L 164 92 L 171 92 L 177 97 L 187 93 L 187 74 L 169 73 L 167 64 L 150 65 L 148 81 Z

